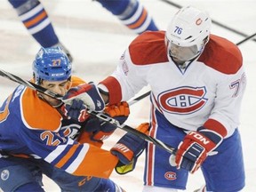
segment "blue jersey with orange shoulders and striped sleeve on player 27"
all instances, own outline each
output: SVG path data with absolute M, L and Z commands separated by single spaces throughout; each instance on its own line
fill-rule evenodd
M 84 83 L 76 77 L 72 82 L 73 86 Z M 36 91 L 20 85 L 0 108 L 0 150 L 11 156 L 43 158 L 74 175 L 108 178 L 117 157 L 73 140 L 80 128 L 81 124 L 64 119 Z

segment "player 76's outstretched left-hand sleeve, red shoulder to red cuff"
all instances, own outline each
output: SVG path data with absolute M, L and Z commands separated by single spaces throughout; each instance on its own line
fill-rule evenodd
M 156 52 L 158 50 L 158 52 Z M 148 31 L 137 36 L 119 60 L 111 76 L 100 82 L 109 92 L 109 103 L 131 99 L 148 85 L 152 66 L 166 62 L 164 31 Z

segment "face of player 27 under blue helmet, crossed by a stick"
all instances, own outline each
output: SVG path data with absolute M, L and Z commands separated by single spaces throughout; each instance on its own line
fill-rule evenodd
M 68 92 L 68 89 L 70 87 L 70 81 L 65 80 L 65 81 L 45 81 L 43 80 L 42 84 L 40 84 L 42 87 L 44 87 L 47 90 L 50 90 L 52 92 L 56 92 L 60 95 L 65 95 Z M 59 106 L 61 101 L 60 100 L 55 100 L 50 96 L 42 94 L 42 97 L 44 100 L 47 100 L 47 102 L 54 106 Z

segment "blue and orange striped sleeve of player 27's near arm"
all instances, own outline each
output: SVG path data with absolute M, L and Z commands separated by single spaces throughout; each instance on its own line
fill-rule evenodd
M 61 136 L 61 132 L 23 129 L 20 140 L 26 142 L 36 156 L 77 176 L 90 175 L 107 179 L 118 161 L 108 150 L 76 142 Z

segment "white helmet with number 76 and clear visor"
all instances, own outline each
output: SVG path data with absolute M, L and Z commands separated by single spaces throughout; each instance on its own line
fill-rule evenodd
M 187 6 L 180 9 L 165 33 L 168 57 L 187 61 L 196 58 L 209 40 L 212 20 L 207 12 Z

